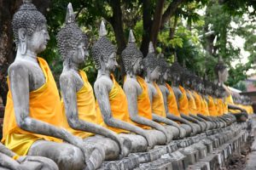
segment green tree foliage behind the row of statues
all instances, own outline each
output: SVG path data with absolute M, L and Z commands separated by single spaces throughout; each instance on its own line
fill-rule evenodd
M 63 26 L 69 2 L 73 4 L 79 26 L 89 37 L 90 47 L 98 37 L 98 27 L 102 19 L 107 21 L 108 38 L 116 44 L 113 28 L 109 23 L 113 15 L 109 4 L 114 2 L 113 0 L 51 1 L 46 15 L 50 40 L 48 48 L 40 56 L 49 62 L 56 82 L 58 82 L 58 77 L 62 71 L 62 61 L 56 48 L 55 36 Z M 147 33 L 143 28 L 143 1 L 122 0 L 120 2 L 125 38 L 128 37 L 129 30 L 133 29 L 139 47 L 143 40 L 143 34 Z M 172 0 L 167 0 L 165 4 L 171 2 Z M 149 1 L 149 3 L 151 4 L 149 14 L 153 16 L 155 1 Z M 165 54 L 170 63 L 174 61 L 174 54 L 176 53 L 181 65 L 184 64 L 190 71 L 213 81 L 216 78 L 213 68 L 219 56 L 223 57 L 227 65 L 231 65 L 235 59 L 241 59 L 241 49 L 234 47 L 230 42 L 230 37 L 242 37 L 245 40 L 244 49 L 249 53 L 249 56 L 246 64 L 239 63 L 234 68 L 230 66 L 228 85 L 233 86 L 246 78 L 246 71 L 252 67 L 256 57 L 254 50 L 256 26 L 252 24 L 254 11 L 249 13 L 249 6 L 255 6 L 253 0 L 224 0 L 222 3 L 215 0 L 184 1 L 177 8 L 175 16 L 160 30 L 156 51 Z M 201 16 L 198 14 L 199 9 L 205 10 L 206 13 Z M 244 19 L 244 14 L 248 15 L 247 20 Z M 239 27 L 232 27 L 232 22 L 235 22 Z M 214 31 L 212 39 L 207 36 L 203 36 L 201 39 L 198 37 L 207 31 Z M 216 42 L 213 43 L 214 38 Z M 208 50 L 211 45 L 209 42 L 212 42 L 212 51 Z M 87 72 L 89 81 L 95 82 L 96 69 L 91 58 L 86 61 L 85 65 L 82 65 L 82 68 Z

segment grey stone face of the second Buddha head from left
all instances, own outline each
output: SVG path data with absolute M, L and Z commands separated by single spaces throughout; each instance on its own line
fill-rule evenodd
M 79 44 L 73 53 L 73 58 L 72 58 L 73 63 L 76 63 L 76 64 L 83 63 L 85 58 L 87 57 L 88 57 L 88 51 L 85 46 L 85 42 L 81 40 L 79 41 Z

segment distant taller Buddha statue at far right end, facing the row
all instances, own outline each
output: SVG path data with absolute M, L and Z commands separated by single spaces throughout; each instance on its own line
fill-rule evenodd
M 246 120 L 245 117 L 247 117 L 247 111 L 234 104 L 230 88 L 224 85 L 224 82 L 226 82 L 229 77 L 229 71 L 227 70 L 227 65 L 224 64 L 222 57 L 219 57 L 218 64 L 215 65 L 214 71 L 218 77 L 218 84 L 225 89 L 225 101 L 228 103 L 230 114 L 236 116 L 238 122 L 243 122 Z

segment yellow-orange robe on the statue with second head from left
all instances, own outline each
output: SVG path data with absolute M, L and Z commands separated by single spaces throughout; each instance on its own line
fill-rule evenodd
M 96 102 L 93 94 L 93 88 L 90 86 L 90 82 L 88 82 L 86 73 L 84 71 L 79 71 L 79 75 L 82 78 L 84 85 L 77 92 L 77 106 L 79 119 L 84 122 L 91 122 L 94 124 L 99 124 L 98 120 L 101 118 L 101 115 L 96 111 Z M 65 113 L 65 107 L 63 100 L 61 100 L 62 109 Z M 67 116 L 64 118 L 64 123 L 67 124 L 67 130 L 73 135 L 78 136 L 79 138 L 87 138 L 89 136 L 94 135 L 93 133 L 88 133 L 80 130 L 75 130 L 72 127 L 69 127 L 67 122 Z

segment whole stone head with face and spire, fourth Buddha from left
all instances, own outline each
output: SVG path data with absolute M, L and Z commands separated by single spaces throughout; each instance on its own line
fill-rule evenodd
M 130 30 L 128 44 L 122 52 L 122 59 L 126 74 L 129 74 L 131 77 L 141 74 L 143 69 L 143 53 L 137 48 L 132 30 Z

